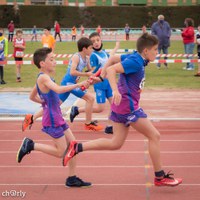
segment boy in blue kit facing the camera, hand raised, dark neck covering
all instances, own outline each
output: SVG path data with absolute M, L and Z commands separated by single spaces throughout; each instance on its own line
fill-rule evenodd
M 115 48 L 110 52 L 110 55 L 107 54 L 104 50 L 102 50 L 103 43 L 99 33 L 94 32 L 91 33 L 89 36 L 90 40 L 93 44 L 94 51 L 90 56 L 90 65 L 94 69 L 93 73 L 97 72 L 100 68 L 102 68 L 105 63 L 108 61 L 109 56 L 115 54 L 115 52 L 119 48 L 119 42 L 116 43 Z M 94 91 L 96 93 L 96 102 L 98 106 L 93 107 L 93 113 L 100 113 L 103 112 L 105 109 L 106 99 L 108 99 L 109 103 L 111 104 L 112 101 L 112 89 L 108 82 L 108 79 L 104 79 L 102 82 L 94 84 Z M 85 112 L 84 108 L 78 108 L 77 106 L 73 106 L 71 109 L 71 119 L 74 119 L 80 112 Z M 112 125 L 109 121 L 106 128 L 105 133 L 112 134 Z

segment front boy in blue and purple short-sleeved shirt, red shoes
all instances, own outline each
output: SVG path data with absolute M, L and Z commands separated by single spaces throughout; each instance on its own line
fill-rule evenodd
M 102 71 L 102 77 L 105 76 L 105 72 L 107 73 L 113 91 L 110 116 L 113 121 L 113 137 L 84 143 L 72 141 L 65 151 L 63 165 L 65 166 L 68 160 L 82 151 L 121 148 L 131 126 L 148 139 L 149 154 L 155 172 L 154 184 L 156 186 L 176 186 L 182 183 L 182 179 L 173 178 L 171 174 L 166 174 L 162 169 L 160 133 L 139 107 L 140 93 L 145 80 L 145 66 L 156 58 L 158 39 L 144 33 L 138 38 L 136 46 L 138 52 L 110 57 Z M 117 74 L 120 74 L 118 83 Z

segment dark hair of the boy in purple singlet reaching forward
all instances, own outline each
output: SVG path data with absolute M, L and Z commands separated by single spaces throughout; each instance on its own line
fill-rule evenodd
M 49 53 L 52 52 L 52 49 L 51 48 L 47 48 L 47 47 L 44 47 L 44 48 L 41 48 L 41 49 L 37 49 L 34 54 L 33 54 L 33 62 L 34 64 L 40 69 L 41 66 L 40 66 L 40 62 L 41 61 L 45 61 L 47 55 Z

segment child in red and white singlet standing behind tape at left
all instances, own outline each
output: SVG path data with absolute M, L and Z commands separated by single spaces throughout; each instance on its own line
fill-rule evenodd
M 16 31 L 16 38 L 14 38 L 13 41 L 13 47 L 14 47 L 14 58 L 15 61 L 23 61 L 24 57 L 24 50 L 26 48 L 26 43 L 24 38 L 22 38 L 23 32 L 22 30 L 17 30 Z M 17 63 L 16 64 L 16 76 L 17 76 L 17 82 L 21 82 L 21 66 L 22 63 Z

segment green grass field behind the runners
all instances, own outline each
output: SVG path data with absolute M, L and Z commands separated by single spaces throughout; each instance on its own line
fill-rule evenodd
M 115 42 L 104 42 L 103 48 L 111 49 L 115 46 Z M 40 42 L 27 42 L 25 53 L 33 53 L 37 48 L 41 47 Z M 135 49 L 135 42 L 122 41 L 120 48 Z M 9 54 L 13 53 L 12 44 L 9 43 Z M 57 42 L 55 53 L 68 54 L 77 52 L 75 42 Z M 172 41 L 169 48 L 170 53 L 184 53 L 182 41 Z M 66 58 L 65 58 L 66 59 Z M 9 58 L 8 60 L 13 60 Z M 24 60 L 28 60 L 27 58 Z M 60 60 L 60 59 L 59 59 Z M 63 59 L 62 59 L 63 60 Z M 194 77 L 194 71 L 184 71 L 182 67 L 184 64 L 169 64 L 169 69 L 165 70 L 164 67 L 161 70 L 156 68 L 155 64 L 149 64 L 146 68 L 146 83 L 145 88 L 179 88 L 179 89 L 199 89 L 200 78 Z M 197 66 L 197 63 L 195 63 Z M 67 66 L 57 65 L 55 79 L 57 83 L 60 83 L 62 77 L 66 72 Z M 6 85 L 1 85 L 1 88 L 29 88 L 33 87 L 38 74 L 38 69 L 34 65 L 23 65 L 22 67 L 22 82 L 16 83 L 15 66 L 5 66 L 4 79 L 7 82 Z

